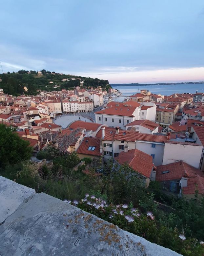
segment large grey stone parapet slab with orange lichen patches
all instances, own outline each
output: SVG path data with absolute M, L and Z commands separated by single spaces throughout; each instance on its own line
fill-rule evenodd
M 12 185 L 11 181 L 7 181 L 8 190 L 10 183 Z M 18 184 L 16 186 L 22 189 Z M 4 186 L 4 191 L 7 189 Z M 1 191 L 0 185 L 0 194 Z M 3 202 L 5 201 L 6 199 Z M 19 255 L 176 256 L 179 254 L 41 193 L 22 203 L 0 225 L 0 256 Z

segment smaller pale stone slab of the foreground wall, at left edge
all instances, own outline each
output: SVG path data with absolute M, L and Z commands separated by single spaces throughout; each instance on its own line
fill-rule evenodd
M 0 176 L 1 177 L 1 176 Z M 0 178 L 0 223 L 17 208 L 35 195 L 34 189 L 19 185 L 4 177 Z

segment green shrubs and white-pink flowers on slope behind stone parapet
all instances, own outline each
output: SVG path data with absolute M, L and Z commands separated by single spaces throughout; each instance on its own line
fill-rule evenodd
M 15 141 L 16 137 L 10 134 L 10 144 L 15 145 Z M 24 149 L 29 148 L 24 145 Z M 146 188 L 133 169 L 127 165 L 119 168 L 112 161 L 104 166 L 101 160 L 84 158 L 85 164 L 74 170 L 80 161 L 76 153 L 62 153 L 49 147 L 37 157 L 46 157 L 53 164 L 33 164 L 26 160 L 26 154 L 15 164 L 6 158 L 11 150 L 19 149 L 4 148 L 3 155 L 0 151 L 3 161 L 0 175 L 36 192 L 45 192 L 66 202 L 71 200 L 87 212 L 185 256 L 203 255 L 200 241 L 204 240 L 204 200 L 197 202 L 196 195 L 190 201 L 169 196 L 161 192 L 157 182 L 151 182 Z M 16 153 L 12 155 L 16 157 Z

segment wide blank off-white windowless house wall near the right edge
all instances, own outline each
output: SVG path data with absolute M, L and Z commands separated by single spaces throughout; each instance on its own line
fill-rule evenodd
M 195 146 L 194 144 L 165 143 L 162 164 L 183 160 L 195 168 L 199 168 L 202 149 L 202 146 Z

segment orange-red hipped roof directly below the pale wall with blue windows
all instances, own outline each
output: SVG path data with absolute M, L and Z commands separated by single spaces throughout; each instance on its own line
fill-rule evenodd
M 121 152 L 116 159 L 119 164 L 127 163 L 133 170 L 150 178 L 154 166 L 152 156 L 138 149 L 132 149 L 128 152 Z

